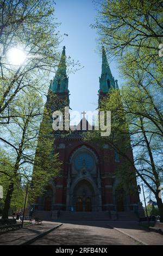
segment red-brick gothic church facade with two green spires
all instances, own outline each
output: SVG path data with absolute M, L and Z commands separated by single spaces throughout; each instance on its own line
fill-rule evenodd
M 69 90 L 66 74 L 65 47 L 60 66 L 51 81 L 46 105 L 55 111 L 68 106 Z M 102 74 L 99 78 L 99 102 L 108 95 L 110 88 L 118 89 L 117 80 L 112 77 L 105 50 L 102 51 Z M 50 99 L 55 95 L 55 107 Z M 57 102 L 57 103 L 56 103 Z M 89 125 L 85 117 L 82 122 Z M 63 131 L 64 133 L 64 131 Z M 46 192 L 37 198 L 35 211 L 73 211 L 73 212 L 136 212 L 139 193 L 121 194 L 117 197 L 115 170 L 123 162 L 108 144 L 102 147 L 83 140 L 82 131 L 74 130 L 66 136 L 54 131 L 54 151 L 59 153 L 60 175 L 49 181 Z M 133 159 L 133 152 L 129 150 Z M 135 179 L 136 180 L 136 179 Z

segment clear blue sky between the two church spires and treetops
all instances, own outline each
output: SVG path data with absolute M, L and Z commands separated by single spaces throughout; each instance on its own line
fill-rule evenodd
M 66 56 L 75 62 L 79 60 L 83 69 L 75 74 L 68 74 L 70 90 L 70 107 L 73 111 L 95 111 L 98 103 L 99 76 L 101 76 L 102 54 L 98 44 L 96 29 L 90 27 L 95 23 L 97 10 L 92 0 L 55 0 L 55 17 L 61 22 L 60 34 L 64 40 L 60 44 L 66 46 Z M 122 85 L 122 78 L 118 72 L 117 64 L 110 62 L 110 70 L 118 86 Z M 81 114 L 82 117 L 82 114 Z M 148 193 L 146 193 L 148 197 Z M 143 194 L 140 195 L 143 202 Z M 148 199 L 146 200 L 148 202 Z

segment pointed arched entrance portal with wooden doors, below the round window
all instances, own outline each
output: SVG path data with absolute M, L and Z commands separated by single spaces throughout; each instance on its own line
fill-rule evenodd
M 89 181 L 83 179 L 74 187 L 74 203 L 76 211 L 92 211 L 95 204 L 95 192 Z

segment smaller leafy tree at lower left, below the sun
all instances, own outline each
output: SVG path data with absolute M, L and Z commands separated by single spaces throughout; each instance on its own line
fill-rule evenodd
M 33 176 L 33 197 L 40 194 L 47 181 L 58 173 L 59 164 L 57 163 L 57 155 L 52 155 L 53 140 L 49 138 L 49 126 L 45 125 L 39 133 L 39 126 L 42 116 L 40 112 L 43 108 L 42 97 L 37 93 L 28 92 L 22 99 L 23 103 L 19 101 L 16 104 L 17 118 L 12 120 L 12 124 L 7 124 L 7 131 L 10 142 L 4 137 L 1 137 L 8 149 L 8 154 L 12 158 L 12 168 L 6 169 L 3 174 L 10 176 L 8 188 L 4 200 L 4 208 L 2 218 L 8 218 L 8 211 L 10 208 L 12 194 L 14 187 L 20 185 L 19 178 L 32 179 Z M 19 129 L 19 136 L 17 131 Z M 52 130 L 52 129 L 51 129 Z M 3 131 L 4 127 L 3 127 Z M 41 138 L 42 143 L 37 145 L 37 139 Z M 35 160 L 35 149 L 40 150 L 41 159 Z M 37 166 L 37 173 L 32 174 L 32 167 L 35 162 Z

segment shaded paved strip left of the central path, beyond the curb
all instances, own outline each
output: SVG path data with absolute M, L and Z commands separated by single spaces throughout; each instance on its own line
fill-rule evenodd
M 42 224 L 31 224 L 23 229 L 0 233 L 0 245 L 22 245 L 59 224 L 58 222 L 43 221 Z

